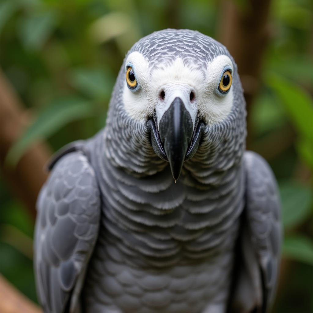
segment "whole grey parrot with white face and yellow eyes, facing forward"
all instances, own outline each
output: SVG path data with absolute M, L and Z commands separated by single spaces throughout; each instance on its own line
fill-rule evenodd
M 245 115 L 222 44 L 175 29 L 134 44 L 105 128 L 61 150 L 39 194 L 44 312 L 268 312 L 280 201 Z

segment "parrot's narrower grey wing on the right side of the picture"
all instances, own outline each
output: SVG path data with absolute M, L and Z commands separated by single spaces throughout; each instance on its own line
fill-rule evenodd
M 280 261 L 280 199 L 275 177 L 256 153 L 244 155 L 246 206 L 230 312 L 268 312 Z M 238 255 L 237 255 L 238 256 Z

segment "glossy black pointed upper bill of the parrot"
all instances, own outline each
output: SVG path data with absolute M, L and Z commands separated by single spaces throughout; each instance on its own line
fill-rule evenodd
M 159 124 L 160 139 L 175 182 L 191 141 L 192 119 L 180 98 L 175 98 Z

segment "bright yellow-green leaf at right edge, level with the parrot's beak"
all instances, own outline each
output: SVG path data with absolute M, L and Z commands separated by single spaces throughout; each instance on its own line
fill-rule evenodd
M 265 84 L 280 99 L 295 129 L 313 143 L 313 104 L 310 95 L 277 74 L 267 74 Z

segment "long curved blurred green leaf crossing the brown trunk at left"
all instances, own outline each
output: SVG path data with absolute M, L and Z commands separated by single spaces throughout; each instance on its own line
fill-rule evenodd
M 6 156 L 6 164 L 16 165 L 23 153 L 34 142 L 51 136 L 70 121 L 79 120 L 93 114 L 93 105 L 85 99 L 66 97 L 54 100 L 37 116 L 35 122 L 10 148 Z

